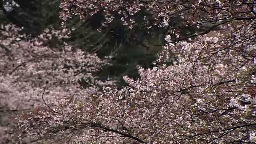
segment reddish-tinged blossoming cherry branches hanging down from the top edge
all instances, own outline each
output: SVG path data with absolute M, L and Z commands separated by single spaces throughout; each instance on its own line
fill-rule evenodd
M 172 42 L 204 35 L 216 28 L 240 30 L 256 18 L 253 0 L 62 0 L 60 7 L 63 20 L 68 20 L 72 14 L 87 20 L 100 12 L 105 17 L 103 27 L 115 18 L 120 18 L 130 29 L 142 25 L 148 29 L 164 27 L 169 34 L 174 34 Z M 142 13 L 144 23 L 138 24 L 136 20 Z M 174 24 L 177 20 L 178 24 Z M 192 27 L 200 31 L 196 34 L 182 33 L 182 29 Z

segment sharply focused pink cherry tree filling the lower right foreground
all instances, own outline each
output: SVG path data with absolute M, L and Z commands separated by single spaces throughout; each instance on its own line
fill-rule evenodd
M 53 102 L 23 114 L 19 126 L 74 144 L 255 142 L 255 31 L 244 28 L 164 46 L 156 67 L 138 66 L 138 80 L 124 76 L 129 86 Z M 166 66 L 170 52 L 177 60 Z

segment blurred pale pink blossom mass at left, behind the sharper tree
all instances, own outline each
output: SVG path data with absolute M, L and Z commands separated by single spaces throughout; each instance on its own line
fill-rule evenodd
M 8 26 L 14 30 L 18 29 Z M 8 33 L 5 31 L 2 34 L 16 34 L 14 30 L 9 30 Z M 44 38 L 45 36 L 42 35 L 39 37 Z M 2 47 L 0 53 L 0 80 L 1 90 L 4 93 L 1 94 L 3 99 L 1 102 L 8 103 L 10 107 L 24 108 L 24 105 L 41 101 L 39 95 L 42 94 L 46 83 L 49 89 L 55 89 L 58 93 L 46 96 L 53 99 L 66 95 L 61 94 L 63 90 L 60 89 L 64 88 L 71 93 L 80 90 L 78 81 L 81 79 L 92 81 L 93 84 L 88 87 L 92 91 L 96 90 L 96 84 L 104 85 L 93 76 L 93 73 L 99 71 L 108 62 L 101 60 L 96 54 L 72 50 L 72 46 L 67 44 L 61 49 L 48 48 L 43 46 L 43 42 L 36 41 L 37 39 L 18 42 L 12 39 L 14 38 L 7 37 L 0 40 L 3 47 L 10 48 L 9 52 Z M 82 93 L 81 97 L 86 97 L 88 91 Z

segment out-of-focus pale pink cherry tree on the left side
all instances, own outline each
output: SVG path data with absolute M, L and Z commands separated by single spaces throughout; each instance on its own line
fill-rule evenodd
M 108 59 L 101 60 L 96 54 L 74 50 L 66 43 L 60 48 L 47 46 L 50 39 L 68 38 L 70 30 L 46 29 L 38 38 L 31 39 L 19 34 L 21 28 L 12 24 L 1 27 L 1 121 L 10 121 L 4 118 L 10 112 L 38 108 L 69 95 L 86 101 L 88 95 L 100 87 L 112 84 L 111 80 L 102 82 L 95 76 L 95 72 L 109 64 Z M 82 88 L 81 82 L 87 86 Z M 8 127 L 2 126 L 1 131 L 3 129 L 8 130 Z

